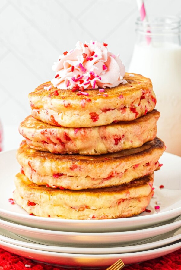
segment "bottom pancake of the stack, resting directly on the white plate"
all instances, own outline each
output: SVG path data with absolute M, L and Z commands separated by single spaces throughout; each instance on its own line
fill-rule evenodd
M 19 173 L 15 186 L 14 199 L 28 213 L 64 219 L 131 217 L 143 212 L 154 194 L 153 176 L 118 187 L 77 191 L 38 186 Z

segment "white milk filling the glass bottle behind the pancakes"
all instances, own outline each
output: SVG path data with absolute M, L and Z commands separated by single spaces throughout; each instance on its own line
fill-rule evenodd
M 152 80 L 156 109 L 161 113 L 157 136 L 165 142 L 167 152 L 181 156 L 181 46 L 136 44 L 129 72 Z

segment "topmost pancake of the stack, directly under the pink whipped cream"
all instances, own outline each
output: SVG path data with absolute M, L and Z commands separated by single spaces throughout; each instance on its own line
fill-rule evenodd
M 89 96 L 43 83 L 29 94 L 32 116 L 55 126 L 76 128 L 131 121 L 152 111 L 156 98 L 151 80 L 139 74 L 130 77 L 128 73 L 124 79 L 128 83 L 106 88 L 104 93 L 85 90 Z M 50 91 L 44 90 L 50 85 Z

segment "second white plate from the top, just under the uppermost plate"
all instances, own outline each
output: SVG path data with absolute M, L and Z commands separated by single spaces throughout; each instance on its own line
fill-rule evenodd
M 181 217 L 165 225 L 141 229 L 136 231 L 106 232 L 106 233 L 80 233 L 66 231 L 51 231 L 38 228 L 31 228 L 24 225 L 12 223 L 0 219 L 0 228 L 8 230 L 14 234 L 23 236 L 25 239 L 35 242 L 43 241 L 67 246 L 110 246 L 120 243 L 128 243 L 154 237 L 167 233 L 181 226 Z

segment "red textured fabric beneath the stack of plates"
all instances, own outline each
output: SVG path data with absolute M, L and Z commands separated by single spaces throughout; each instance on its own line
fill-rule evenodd
M 31 265 L 31 268 L 25 267 L 25 265 Z M 5 251 L 0 248 L 0 270 L 65 270 L 62 267 L 55 267 L 51 265 L 45 265 L 43 263 L 36 263 L 30 259 L 26 259 L 21 256 L 17 256 L 13 253 Z M 140 264 L 132 264 L 125 267 L 124 270 L 181 270 L 181 249 L 170 253 L 166 256 L 153 259 Z M 69 268 L 74 270 L 74 268 Z M 81 268 L 76 268 L 81 270 Z

